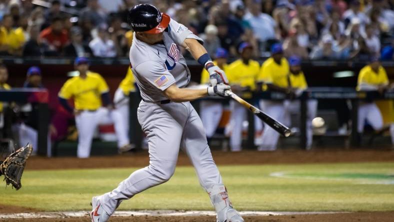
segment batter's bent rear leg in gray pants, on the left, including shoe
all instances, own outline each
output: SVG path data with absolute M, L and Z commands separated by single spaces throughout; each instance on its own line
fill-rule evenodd
M 121 201 L 167 181 L 175 170 L 187 112 L 181 103 L 168 103 L 162 106 L 165 107 L 141 102 L 138 108 L 138 121 L 146 133 L 149 144 L 149 165 L 134 171 L 115 189 L 97 197 L 109 215 Z

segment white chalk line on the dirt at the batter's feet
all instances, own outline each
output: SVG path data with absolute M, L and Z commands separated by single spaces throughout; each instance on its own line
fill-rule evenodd
M 270 216 L 270 215 L 300 215 L 300 214 L 329 214 L 345 213 L 335 211 L 310 211 L 310 212 L 291 212 L 291 211 L 240 211 L 243 216 Z M 88 216 L 89 211 L 63 211 L 63 212 L 21 212 L 0 214 L 0 219 L 20 219 L 20 218 L 65 218 Z M 175 210 L 138 210 L 138 211 L 115 211 L 112 216 L 214 216 L 214 211 L 175 211 Z

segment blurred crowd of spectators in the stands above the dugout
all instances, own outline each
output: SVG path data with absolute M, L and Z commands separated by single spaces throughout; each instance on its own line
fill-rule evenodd
M 128 56 L 129 8 L 151 3 L 217 48 L 255 57 L 273 43 L 303 59 L 392 59 L 392 0 L 0 0 L 0 54 Z

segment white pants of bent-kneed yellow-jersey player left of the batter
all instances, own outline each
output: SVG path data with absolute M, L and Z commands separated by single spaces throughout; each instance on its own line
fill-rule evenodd
M 127 144 L 128 137 L 119 133 L 117 126 L 119 122 L 124 121 L 119 117 L 117 112 L 109 111 L 107 108 L 100 107 L 95 111 L 84 110 L 75 116 L 75 124 L 78 129 L 78 148 L 76 155 L 79 158 L 87 158 L 90 156 L 91 140 L 94 131 L 99 124 L 114 123 L 118 144 Z

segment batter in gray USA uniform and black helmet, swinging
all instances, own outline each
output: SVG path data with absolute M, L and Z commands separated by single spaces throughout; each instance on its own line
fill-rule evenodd
M 189 102 L 206 95 L 224 96 L 230 86 L 224 84 L 227 79 L 223 70 L 212 63 L 199 37 L 156 7 L 138 4 L 127 17 L 134 31 L 131 69 L 142 97 L 137 116 L 148 139 L 150 161 L 112 191 L 92 197 L 92 221 L 107 221 L 121 201 L 167 181 L 175 170 L 179 148 L 186 151 L 201 186 L 209 194 L 217 221 L 243 221 L 232 208 L 201 119 Z M 190 72 L 179 46 L 204 65 L 213 86 L 184 88 Z

